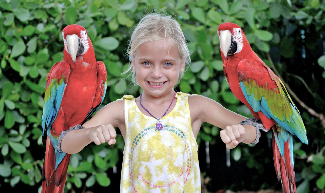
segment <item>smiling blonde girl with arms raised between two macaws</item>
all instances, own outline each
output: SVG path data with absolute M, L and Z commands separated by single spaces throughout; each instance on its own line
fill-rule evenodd
M 203 122 L 224 129 L 220 136 L 227 148 L 258 140 L 254 126 L 238 124 L 245 117 L 207 97 L 174 91 L 190 56 L 171 16 L 145 15 L 128 54 L 132 79 L 143 93 L 109 103 L 83 129 L 78 125 L 60 136 L 62 151 L 73 154 L 91 142 L 115 144 L 118 127 L 125 141 L 121 192 L 200 192 L 196 137 Z

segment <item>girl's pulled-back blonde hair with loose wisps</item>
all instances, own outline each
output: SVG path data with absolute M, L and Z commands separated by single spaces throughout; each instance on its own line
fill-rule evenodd
M 167 13 L 162 15 L 156 11 L 144 15 L 140 19 L 139 23 L 134 27 L 129 46 L 127 48 L 127 56 L 129 57 L 130 64 L 128 69 L 122 74 L 126 74 L 130 71 L 128 77 L 132 76 L 132 82 L 135 85 L 138 85 L 136 82 L 136 72 L 133 69 L 130 56 L 134 58 L 136 55 L 136 50 L 141 44 L 165 39 L 172 41 L 176 45 L 179 57 L 182 60 L 185 60 L 184 70 L 179 76 L 180 80 L 191 63 L 186 39 L 177 20 Z

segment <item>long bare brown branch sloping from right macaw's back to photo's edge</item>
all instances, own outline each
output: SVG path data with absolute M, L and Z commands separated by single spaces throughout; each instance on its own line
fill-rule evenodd
M 283 78 L 280 76 L 279 72 L 277 71 L 277 69 L 275 68 L 273 61 L 269 55 L 269 53 L 266 53 L 267 59 L 269 60 L 270 64 L 271 64 L 271 68 L 272 70 L 275 72 L 275 74 L 281 79 L 282 83 L 284 84 L 284 86 L 286 87 L 287 91 L 289 92 L 289 94 L 300 104 L 300 106 L 302 106 L 304 109 L 306 109 L 311 115 L 317 117 L 321 124 L 323 125 L 323 127 L 325 128 L 325 116 L 323 113 L 317 113 L 314 109 L 311 109 L 310 107 L 308 107 L 303 101 L 301 101 L 298 96 L 291 90 L 290 86 L 284 82 Z

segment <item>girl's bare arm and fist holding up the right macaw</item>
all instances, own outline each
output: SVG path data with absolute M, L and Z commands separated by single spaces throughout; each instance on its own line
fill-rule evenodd
M 253 143 L 256 129 L 252 125 L 239 125 L 246 117 L 232 112 L 218 102 L 205 96 L 190 96 L 188 103 L 191 113 L 193 133 L 197 136 L 201 124 L 208 122 L 221 129 L 220 136 L 227 148 L 234 148 L 238 143 Z

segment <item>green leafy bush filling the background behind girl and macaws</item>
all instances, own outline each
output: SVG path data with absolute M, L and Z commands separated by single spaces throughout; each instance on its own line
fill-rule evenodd
M 132 26 L 156 7 L 180 22 L 188 40 L 192 65 L 177 90 L 208 96 L 227 109 L 251 116 L 224 80 L 217 27 L 222 22 L 234 22 L 243 28 L 253 50 L 265 63 L 271 65 L 273 61 L 273 70 L 279 71 L 297 96 L 316 112 L 324 112 L 323 1 L 0 0 L 0 7 L 0 189 L 24 184 L 36 189 L 41 186 L 45 155 L 41 117 L 46 75 L 54 63 L 63 59 L 61 32 L 68 24 L 86 28 L 97 60 L 106 65 L 109 81 L 103 104 L 123 95 L 139 95 L 140 88 L 128 84 L 126 75 L 121 75 L 128 65 L 125 49 Z M 304 82 L 300 77 L 304 77 Z M 298 108 L 310 145 L 298 141 L 294 145 L 297 190 L 317 192 L 325 186 L 324 125 L 307 110 L 299 105 Z M 217 127 L 205 123 L 197 141 L 213 145 L 220 140 L 218 134 Z M 110 176 L 122 160 L 119 156 L 124 147 L 121 135 L 116 141 L 115 146 L 92 144 L 72 155 L 66 190 L 97 183 L 102 187 L 119 186 L 110 185 Z M 235 161 L 247 165 L 256 179 L 263 179 L 263 167 L 273 167 L 273 161 L 263 156 L 262 148 L 267 146 L 240 145 L 231 154 Z M 262 187 L 238 185 L 246 189 L 272 186 L 268 182 Z M 226 186 L 229 187 L 230 184 Z

